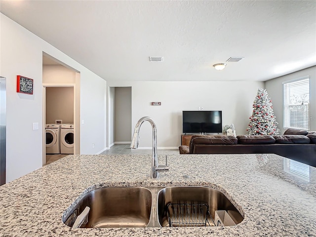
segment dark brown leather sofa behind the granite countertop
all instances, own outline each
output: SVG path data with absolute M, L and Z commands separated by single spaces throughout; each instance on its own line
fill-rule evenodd
M 276 154 L 316 167 L 316 132 L 289 128 L 283 135 L 193 135 L 180 154 Z

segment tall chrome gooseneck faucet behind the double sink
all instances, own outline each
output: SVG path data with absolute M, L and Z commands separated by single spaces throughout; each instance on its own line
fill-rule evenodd
M 161 171 L 168 171 L 169 167 L 167 165 L 158 165 L 158 158 L 157 158 L 157 128 L 154 120 L 149 117 L 143 117 L 138 120 L 135 126 L 134 135 L 132 138 L 132 143 L 130 144 L 130 148 L 136 149 L 138 147 L 139 143 L 139 129 L 140 126 L 144 121 L 149 121 L 150 124 L 153 127 L 153 155 L 152 155 L 152 172 L 151 172 L 151 178 L 158 179 L 159 178 L 159 172 Z M 167 158 L 166 158 L 166 164 L 167 164 Z

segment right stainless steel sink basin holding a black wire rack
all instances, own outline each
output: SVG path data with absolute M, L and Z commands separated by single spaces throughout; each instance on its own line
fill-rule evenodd
M 238 224 L 243 220 L 232 202 L 208 187 L 167 187 L 158 193 L 161 227 L 215 226 L 215 211 L 225 210 Z

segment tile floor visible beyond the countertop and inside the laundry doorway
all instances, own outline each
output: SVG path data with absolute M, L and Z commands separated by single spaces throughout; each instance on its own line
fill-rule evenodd
M 102 152 L 100 155 L 117 155 L 117 154 L 124 154 L 124 155 L 151 155 L 152 149 L 150 150 L 140 150 L 140 149 L 130 149 L 130 144 L 115 144 L 109 150 Z M 164 149 L 164 150 L 157 150 L 158 155 L 179 155 L 178 149 Z M 68 156 L 67 154 L 54 154 L 54 155 L 46 155 L 46 164 L 50 164 L 60 158 Z

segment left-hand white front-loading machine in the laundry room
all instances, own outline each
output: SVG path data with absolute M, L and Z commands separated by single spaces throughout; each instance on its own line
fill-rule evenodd
M 46 154 L 60 154 L 60 124 L 46 124 Z

